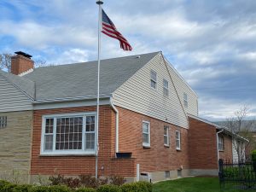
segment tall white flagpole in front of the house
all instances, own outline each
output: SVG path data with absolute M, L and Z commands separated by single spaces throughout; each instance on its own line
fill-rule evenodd
M 98 177 L 98 152 L 99 152 L 99 106 L 100 106 L 100 68 L 101 68 L 101 29 L 102 29 L 102 4 L 101 0 L 97 1 L 99 5 L 98 20 L 98 73 L 97 73 L 97 102 L 96 102 L 96 166 L 95 177 Z

